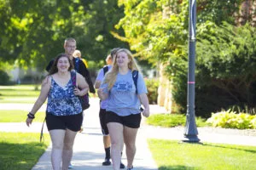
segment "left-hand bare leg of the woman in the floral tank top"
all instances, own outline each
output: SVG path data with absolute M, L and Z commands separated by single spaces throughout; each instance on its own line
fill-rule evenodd
M 52 142 L 51 164 L 54 170 L 61 170 L 61 156 L 65 132 L 66 131 L 62 129 L 49 131 L 50 139 Z

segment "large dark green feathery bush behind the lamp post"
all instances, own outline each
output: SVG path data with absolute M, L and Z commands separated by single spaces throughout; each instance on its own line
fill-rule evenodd
M 207 25 L 208 24 L 208 25 Z M 248 109 L 256 105 L 255 28 L 249 25 L 221 26 L 206 23 L 198 29 L 195 65 L 195 115 L 210 117 L 230 105 Z M 173 99 L 187 109 L 187 54 L 170 59 Z M 175 60 L 176 59 L 176 60 Z M 176 63 L 176 65 L 172 65 Z

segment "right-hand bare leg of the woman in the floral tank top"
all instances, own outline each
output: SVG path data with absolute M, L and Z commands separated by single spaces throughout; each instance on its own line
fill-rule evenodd
M 73 142 L 77 132 L 73 132 L 69 129 L 66 130 L 64 138 L 64 147 L 62 152 L 62 170 L 67 170 L 71 158 L 73 156 Z

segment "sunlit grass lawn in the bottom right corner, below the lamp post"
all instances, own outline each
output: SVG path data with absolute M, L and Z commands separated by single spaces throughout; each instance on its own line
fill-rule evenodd
M 148 139 L 159 170 L 254 170 L 256 147 Z

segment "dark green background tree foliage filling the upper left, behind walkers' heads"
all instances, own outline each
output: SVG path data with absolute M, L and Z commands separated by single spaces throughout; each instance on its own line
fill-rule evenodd
M 127 47 L 110 33 L 122 16 L 115 0 L 0 0 L 0 62 L 17 59 L 23 68 L 44 70 L 63 52 L 64 39 L 74 37 L 82 54 L 98 63 L 111 48 Z

